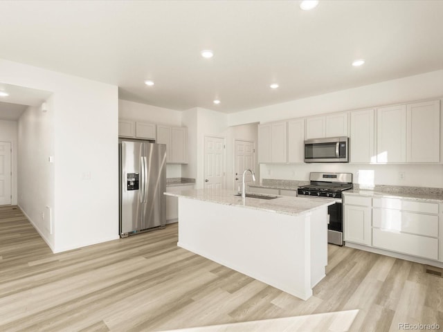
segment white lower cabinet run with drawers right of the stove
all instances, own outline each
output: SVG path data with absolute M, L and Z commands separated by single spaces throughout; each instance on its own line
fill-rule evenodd
M 443 261 L 441 204 L 391 198 L 371 202 L 365 196 L 344 196 L 345 241 L 386 250 L 386 255 L 397 252 L 412 260 Z

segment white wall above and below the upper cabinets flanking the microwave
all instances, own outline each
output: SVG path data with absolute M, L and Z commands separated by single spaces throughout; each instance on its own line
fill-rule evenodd
M 355 89 L 293 100 L 258 109 L 228 115 L 228 124 L 270 122 L 290 118 L 302 118 L 320 113 L 352 111 L 400 102 L 441 98 L 443 95 L 443 71 L 404 77 L 398 80 L 370 84 Z M 347 163 L 260 165 L 260 178 L 308 180 L 309 172 L 350 172 L 354 181 L 357 172 L 372 174 L 376 185 L 410 185 L 443 187 L 443 165 L 352 165 Z M 399 180 L 399 172 L 405 172 Z M 360 173 L 360 172 L 359 172 Z

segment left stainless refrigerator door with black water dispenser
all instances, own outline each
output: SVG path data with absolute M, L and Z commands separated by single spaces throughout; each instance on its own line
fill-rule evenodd
M 143 229 L 143 143 L 120 143 L 120 236 Z

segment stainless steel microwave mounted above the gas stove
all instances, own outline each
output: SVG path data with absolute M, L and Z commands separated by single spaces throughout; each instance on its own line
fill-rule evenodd
M 347 137 L 305 140 L 305 163 L 347 163 L 348 148 Z

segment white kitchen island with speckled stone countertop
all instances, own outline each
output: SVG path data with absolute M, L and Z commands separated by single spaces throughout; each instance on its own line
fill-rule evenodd
M 300 299 L 325 277 L 327 206 L 334 201 L 242 199 L 230 190 L 165 194 L 179 197 L 181 248 Z

